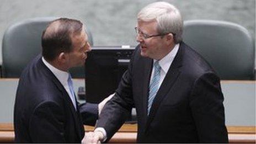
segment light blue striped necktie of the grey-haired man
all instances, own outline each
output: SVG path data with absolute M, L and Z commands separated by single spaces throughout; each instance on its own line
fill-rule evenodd
M 159 86 L 159 80 L 160 80 L 160 71 L 161 66 L 159 65 L 159 62 L 154 62 L 154 75 L 152 77 L 152 81 L 150 83 L 150 92 L 148 96 L 148 105 L 147 105 L 147 115 L 150 114 L 150 109 L 154 100 L 154 97 L 156 97 L 158 86 Z

